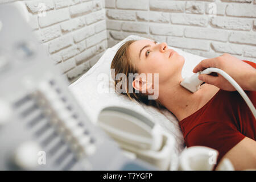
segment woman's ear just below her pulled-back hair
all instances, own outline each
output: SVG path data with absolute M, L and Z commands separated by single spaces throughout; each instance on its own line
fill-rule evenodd
M 142 77 L 141 75 L 135 77 L 133 81 L 133 88 L 135 90 L 139 90 L 142 93 L 147 93 L 147 90 L 152 88 L 152 83 L 148 82 L 146 77 Z

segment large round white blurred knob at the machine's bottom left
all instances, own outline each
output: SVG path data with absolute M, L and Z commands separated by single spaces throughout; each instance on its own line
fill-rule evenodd
M 41 148 L 38 143 L 32 141 L 24 142 L 14 152 L 14 163 L 20 169 L 34 169 L 39 166 L 39 151 L 41 151 Z

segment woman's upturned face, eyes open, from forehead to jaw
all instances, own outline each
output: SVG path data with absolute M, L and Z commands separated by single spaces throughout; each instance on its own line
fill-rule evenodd
M 129 46 L 128 52 L 139 73 L 159 73 L 159 84 L 181 76 L 184 57 L 168 49 L 166 43 L 138 40 Z

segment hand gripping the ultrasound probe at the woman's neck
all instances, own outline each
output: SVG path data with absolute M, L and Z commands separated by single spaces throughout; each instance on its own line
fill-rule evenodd
M 201 63 L 199 63 L 193 69 L 193 72 L 197 73 L 210 67 L 219 68 L 228 73 L 228 75 L 230 75 L 243 90 L 256 90 L 256 69 L 251 67 L 251 65 L 244 63 L 237 57 L 224 53 L 219 57 L 202 60 Z M 217 76 L 202 74 L 199 76 L 199 79 L 207 84 L 217 86 L 222 90 L 236 90 L 224 77 L 218 73 Z

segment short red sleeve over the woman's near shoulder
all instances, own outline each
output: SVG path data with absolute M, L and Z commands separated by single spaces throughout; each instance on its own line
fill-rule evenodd
M 217 150 L 217 163 L 243 138 L 245 135 L 224 122 L 201 123 L 186 136 L 190 146 L 206 146 Z

